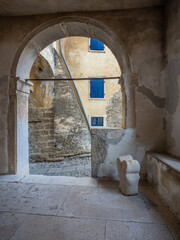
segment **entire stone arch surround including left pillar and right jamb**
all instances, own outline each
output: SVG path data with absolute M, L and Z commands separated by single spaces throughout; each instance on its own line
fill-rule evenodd
M 28 173 L 28 95 L 29 73 L 39 52 L 55 40 L 83 36 L 95 38 L 106 44 L 120 66 L 123 96 L 122 126 L 134 127 L 133 91 L 130 86 L 131 71 L 128 54 L 123 43 L 115 34 L 99 21 L 87 18 L 56 19 L 31 32 L 19 48 L 11 69 L 9 127 L 14 135 L 9 136 L 9 172 Z M 17 96 L 14 97 L 14 93 Z M 23 113 L 22 113 L 23 109 Z M 14 119 L 14 121 L 12 121 Z M 10 132 L 10 131 L 9 131 Z M 12 133 L 11 133 L 12 134 Z M 14 152 L 12 151 L 14 149 Z M 12 161 L 13 159 L 13 161 Z

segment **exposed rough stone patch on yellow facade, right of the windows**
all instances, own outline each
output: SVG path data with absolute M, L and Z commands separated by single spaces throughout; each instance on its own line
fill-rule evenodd
M 107 102 L 106 125 L 108 127 L 121 128 L 122 126 L 122 94 L 121 90 Z

